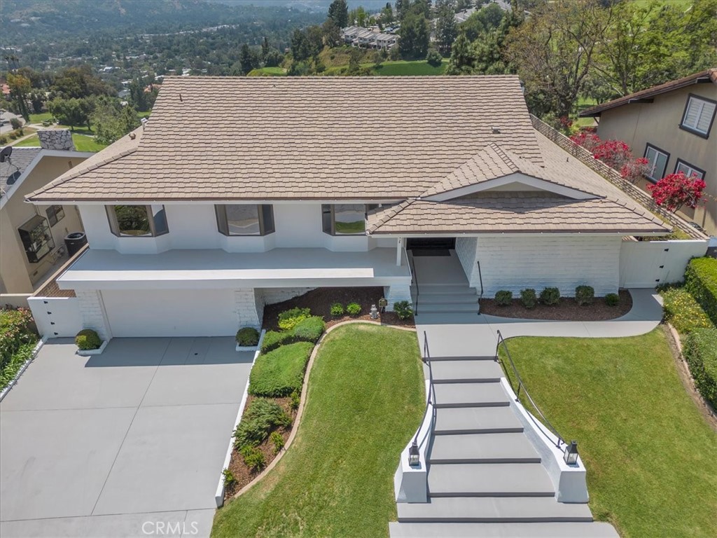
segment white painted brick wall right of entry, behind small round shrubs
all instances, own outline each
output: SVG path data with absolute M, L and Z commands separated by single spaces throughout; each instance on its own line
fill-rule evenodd
M 621 243 L 617 236 L 478 237 L 475 260 L 480 260 L 487 298 L 498 290 L 519 293 L 523 288 L 535 288 L 540 293 L 546 286 L 555 286 L 561 295 L 571 297 L 578 285 L 592 285 L 595 295 L 604 296 L 617 292 Z M 462 249 L 467 259 L 465 253 L 470 249 L 465 245 Z M 475 260 L 469 280 L 480 291 Z

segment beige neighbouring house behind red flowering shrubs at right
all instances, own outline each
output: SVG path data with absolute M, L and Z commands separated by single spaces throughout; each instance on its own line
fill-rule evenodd
M 672 80 L 583 110 L 598 119 L 604 140 L 625 141 L 635 156 L 650 162 L 649 181 L 655 183 L 683 171 L 703 179 L 707 188 L 696 209 L 683 209 L 687 220 L 717 235 L 717 69 Z

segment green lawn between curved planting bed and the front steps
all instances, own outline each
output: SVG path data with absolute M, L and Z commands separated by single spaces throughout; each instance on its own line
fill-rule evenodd
M 220 509 L 212 536 L 388 536 L 393 476 L 420 423 L 416 334 L 370 324 L 332 331 L 311 370 L 298 435 L 246 494 Z

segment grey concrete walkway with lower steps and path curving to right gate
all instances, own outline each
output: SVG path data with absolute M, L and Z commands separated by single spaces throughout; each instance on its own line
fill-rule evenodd
M 510 405 L 495 362 L 498 331 L 512 336 L 636 336 L 663 311 L 652 290 L 633 290 L 632 310 L 611 321 L 536 321 L 465 313 L 416 316 L 431 359 L 436 418 L 427 503 L 399 503 L 391 538 L 617 537 L 587 503 L 556 500 L 541 457 Z

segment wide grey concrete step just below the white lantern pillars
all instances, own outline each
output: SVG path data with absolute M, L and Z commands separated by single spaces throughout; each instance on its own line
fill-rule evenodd
M 587 504 L 559 503 L 554 497 L 436 497 L 397 508 L 399 522 L 592 522 Z

